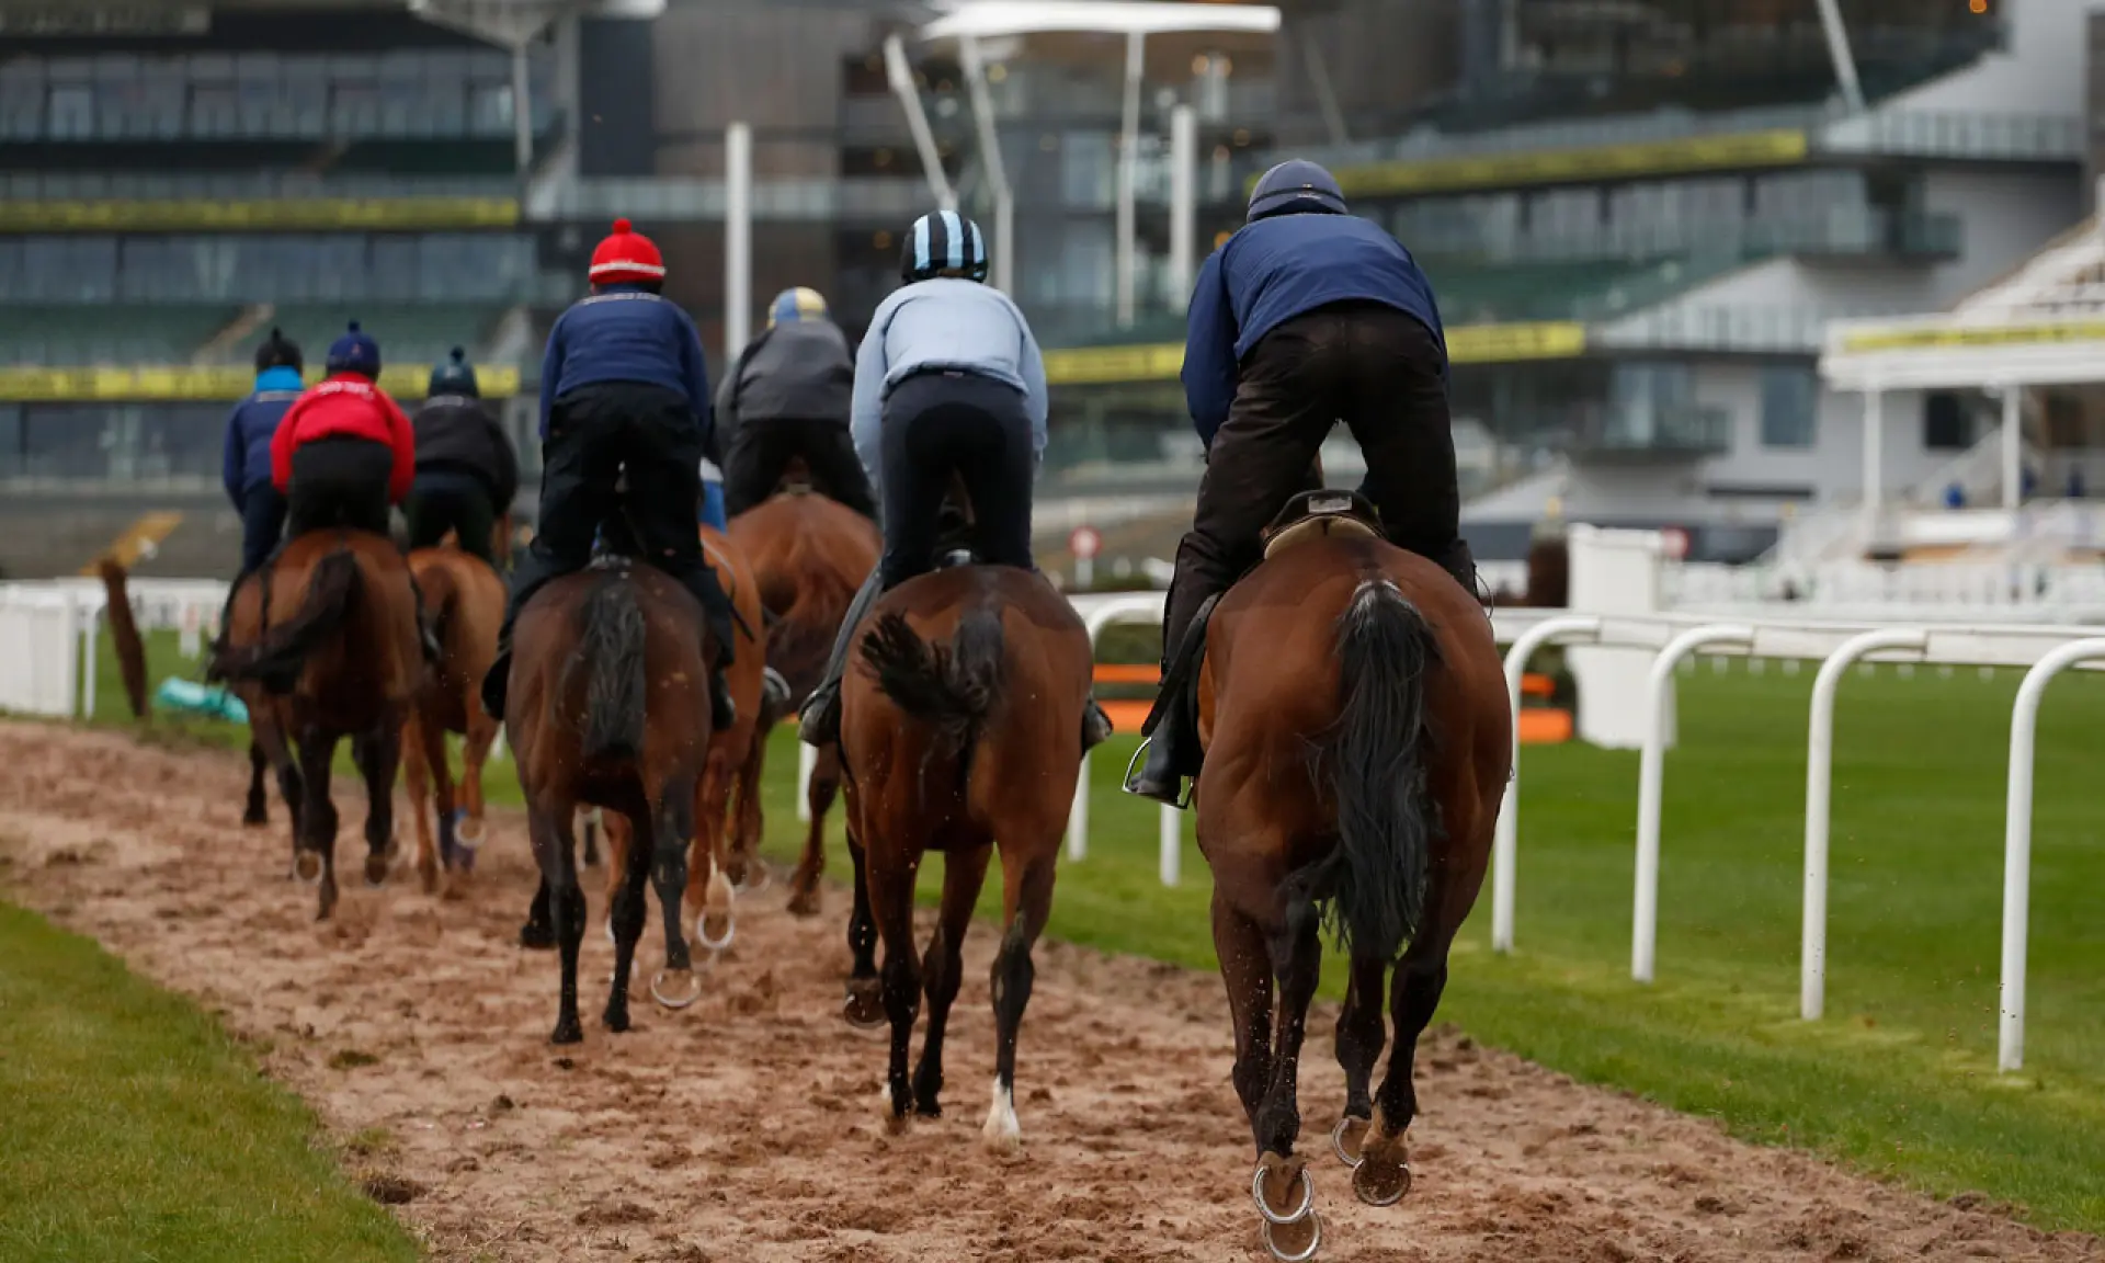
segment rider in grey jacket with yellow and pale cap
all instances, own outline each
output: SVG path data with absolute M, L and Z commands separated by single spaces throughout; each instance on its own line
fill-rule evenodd
M 804 457 L 819 495 L 876 522 L 869 478 L 848 440 L 855 360 L 819 290 L 775 295 L 768 326 L 739 356 L 716 396 L 724 440 L 724 509 L 739 516 L 775 495 L 789 457 Z

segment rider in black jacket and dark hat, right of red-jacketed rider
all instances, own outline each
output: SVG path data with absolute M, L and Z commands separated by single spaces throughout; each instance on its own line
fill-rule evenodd
M 450 360 L 432 368 L 432 385 L 417 408 L 417 480 L 402 505 L 408 545 L 436 547 L 453 530 L 461 552 L 495 568 L 490 533 L 518 490 L 512 440 L 482 404 L 467 352 L 453 347 Z

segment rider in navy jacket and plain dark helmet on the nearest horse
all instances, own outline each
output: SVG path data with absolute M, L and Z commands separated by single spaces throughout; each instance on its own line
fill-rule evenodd
M 1431 282 L 1387 232 L 1345 210 L 1314 162 L 1267 171 L 1248 221 L 1198 274 L 1185 402 L 1206 444 L 1191 530 L 1162 621 L 1162 716 L 1130 794 L 1175 804 L 1198 775 L 1185 634 L 1259 560 L 1259 535 L 1309 476 L 1335 421 L 1366 457 L 1360 490 L 1391 543 L 1476 594 L 1459 528 L 1448 356 Z

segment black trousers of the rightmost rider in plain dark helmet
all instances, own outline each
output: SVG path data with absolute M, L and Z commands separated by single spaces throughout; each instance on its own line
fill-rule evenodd
M 1467 568 L 1442 362 L 1431 328 L 1379 303 L 1307 312 L 1250 347 L 1177 549 L 1164 661 L 1206 598 L 1259 562 L 1259 535 L 1311 484 L 1316 455 L 1339 421 L 1366 455 L 1360 495 L 1381 512 L 1389 543 Z

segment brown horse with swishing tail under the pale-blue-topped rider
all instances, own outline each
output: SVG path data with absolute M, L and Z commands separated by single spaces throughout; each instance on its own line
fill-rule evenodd
M 1004 935 L 994 960 L 996 1078 L 981 1130 L 1015 1147 L 1017 1031 L 1031 998 L 1031 945 L 1052 909 L 1052 876 L 1074 802 L 1090 646 L 1082 619 L 1038 575 L 954 566 L 878 600 L 842 682 L 855 914 L 846 1017 L 890 1021 L 886 1116 L 941 1114 L 943 1031 L 958 996 L 964 933 L 1000 846 Z M 850 659 L 850 661 L 857 661 Z M 914 956 L 914 878 L 943 853 L 943 911 Z M 884 943 L 878 973 L 876 941 Z M 928 1038 L 907 1080 L 907 1042 L 928 996 Z M 880 1017 L 882 1015 L 882 1017 Z

